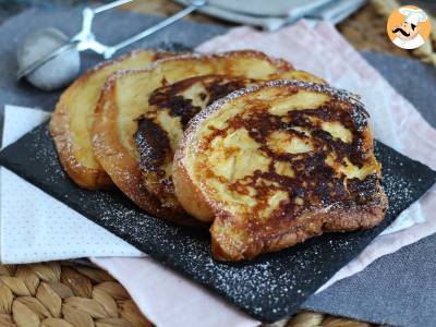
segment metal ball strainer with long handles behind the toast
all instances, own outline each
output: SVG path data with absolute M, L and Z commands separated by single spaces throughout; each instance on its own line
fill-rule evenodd
M 82 12 L 82 29 L 71 39 L 53 27 L 43 28 L 27 35 L 17 49 L 17 80 L 26 77 L 34 86 L 45 90 L 62 87 L 78 73 L 81 66 L 78 53 L 81 51 L 92 50 L 105 59 L 109 59 L 120 49 L 167 27 L 207 2 L 206 0 L 191 0 L 190 5 L 174 15 L 114 46 L 99 43 L 93 33 L 94 16 L 131 1 L 133 0 L 118 0 L 95 9 L 85 8 Z

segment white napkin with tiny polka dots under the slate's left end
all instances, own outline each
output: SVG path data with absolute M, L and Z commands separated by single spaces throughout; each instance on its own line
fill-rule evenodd
M 2 145 L 47 120 L 41 110 L 4 107 Z M 141 252 L 15 173 L 0 168 L 2 263 L 84 256 L 141 256 Z

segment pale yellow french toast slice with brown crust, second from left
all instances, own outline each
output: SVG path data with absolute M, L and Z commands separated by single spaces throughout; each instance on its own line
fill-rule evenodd
M 186 214 L 179 203 L 168 196 L 157 196 L 142 182 L 134 135 L 137 118 L 150 110 L 150 94 L 158 87 L 194 76 L 226 74 L 245 78 L 275 78 L 291 69 L 288 62 L 271 59 L 262 52 L 232 51 L 172 57 L 157 61 L 149 70 L 114 74 L 107 81 L 96 107 L 94 153 L 117 186 L 135 204 L 158 217 L 180 221 Z M 161 119 L 162 125 L 168 124 L 167 130 L 171 130 L 174 120 L 165 114 Z M 155 150 L 156 146 L 161 146 L 158 142 L 142 152 Z

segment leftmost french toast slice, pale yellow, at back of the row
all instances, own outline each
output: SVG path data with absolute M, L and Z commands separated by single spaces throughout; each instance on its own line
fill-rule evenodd
M 89 190 L 113 185 L 94 157 L 89 132 L 107 77 L 118 70 L 145 69 L 168 56 L 145 50 L 130 52 L 88 70 L 62 93 L 50 121 L 50 133 L 63 169 L 77 185 Z

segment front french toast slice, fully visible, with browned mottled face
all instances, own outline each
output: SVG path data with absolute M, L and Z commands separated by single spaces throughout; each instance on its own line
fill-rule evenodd
M 250 259 L 385 216 L 368 114 L 343 90 L 272 81 L 191 120 L 174 155 L 175 195 L 211 221 L 216 259 Z

